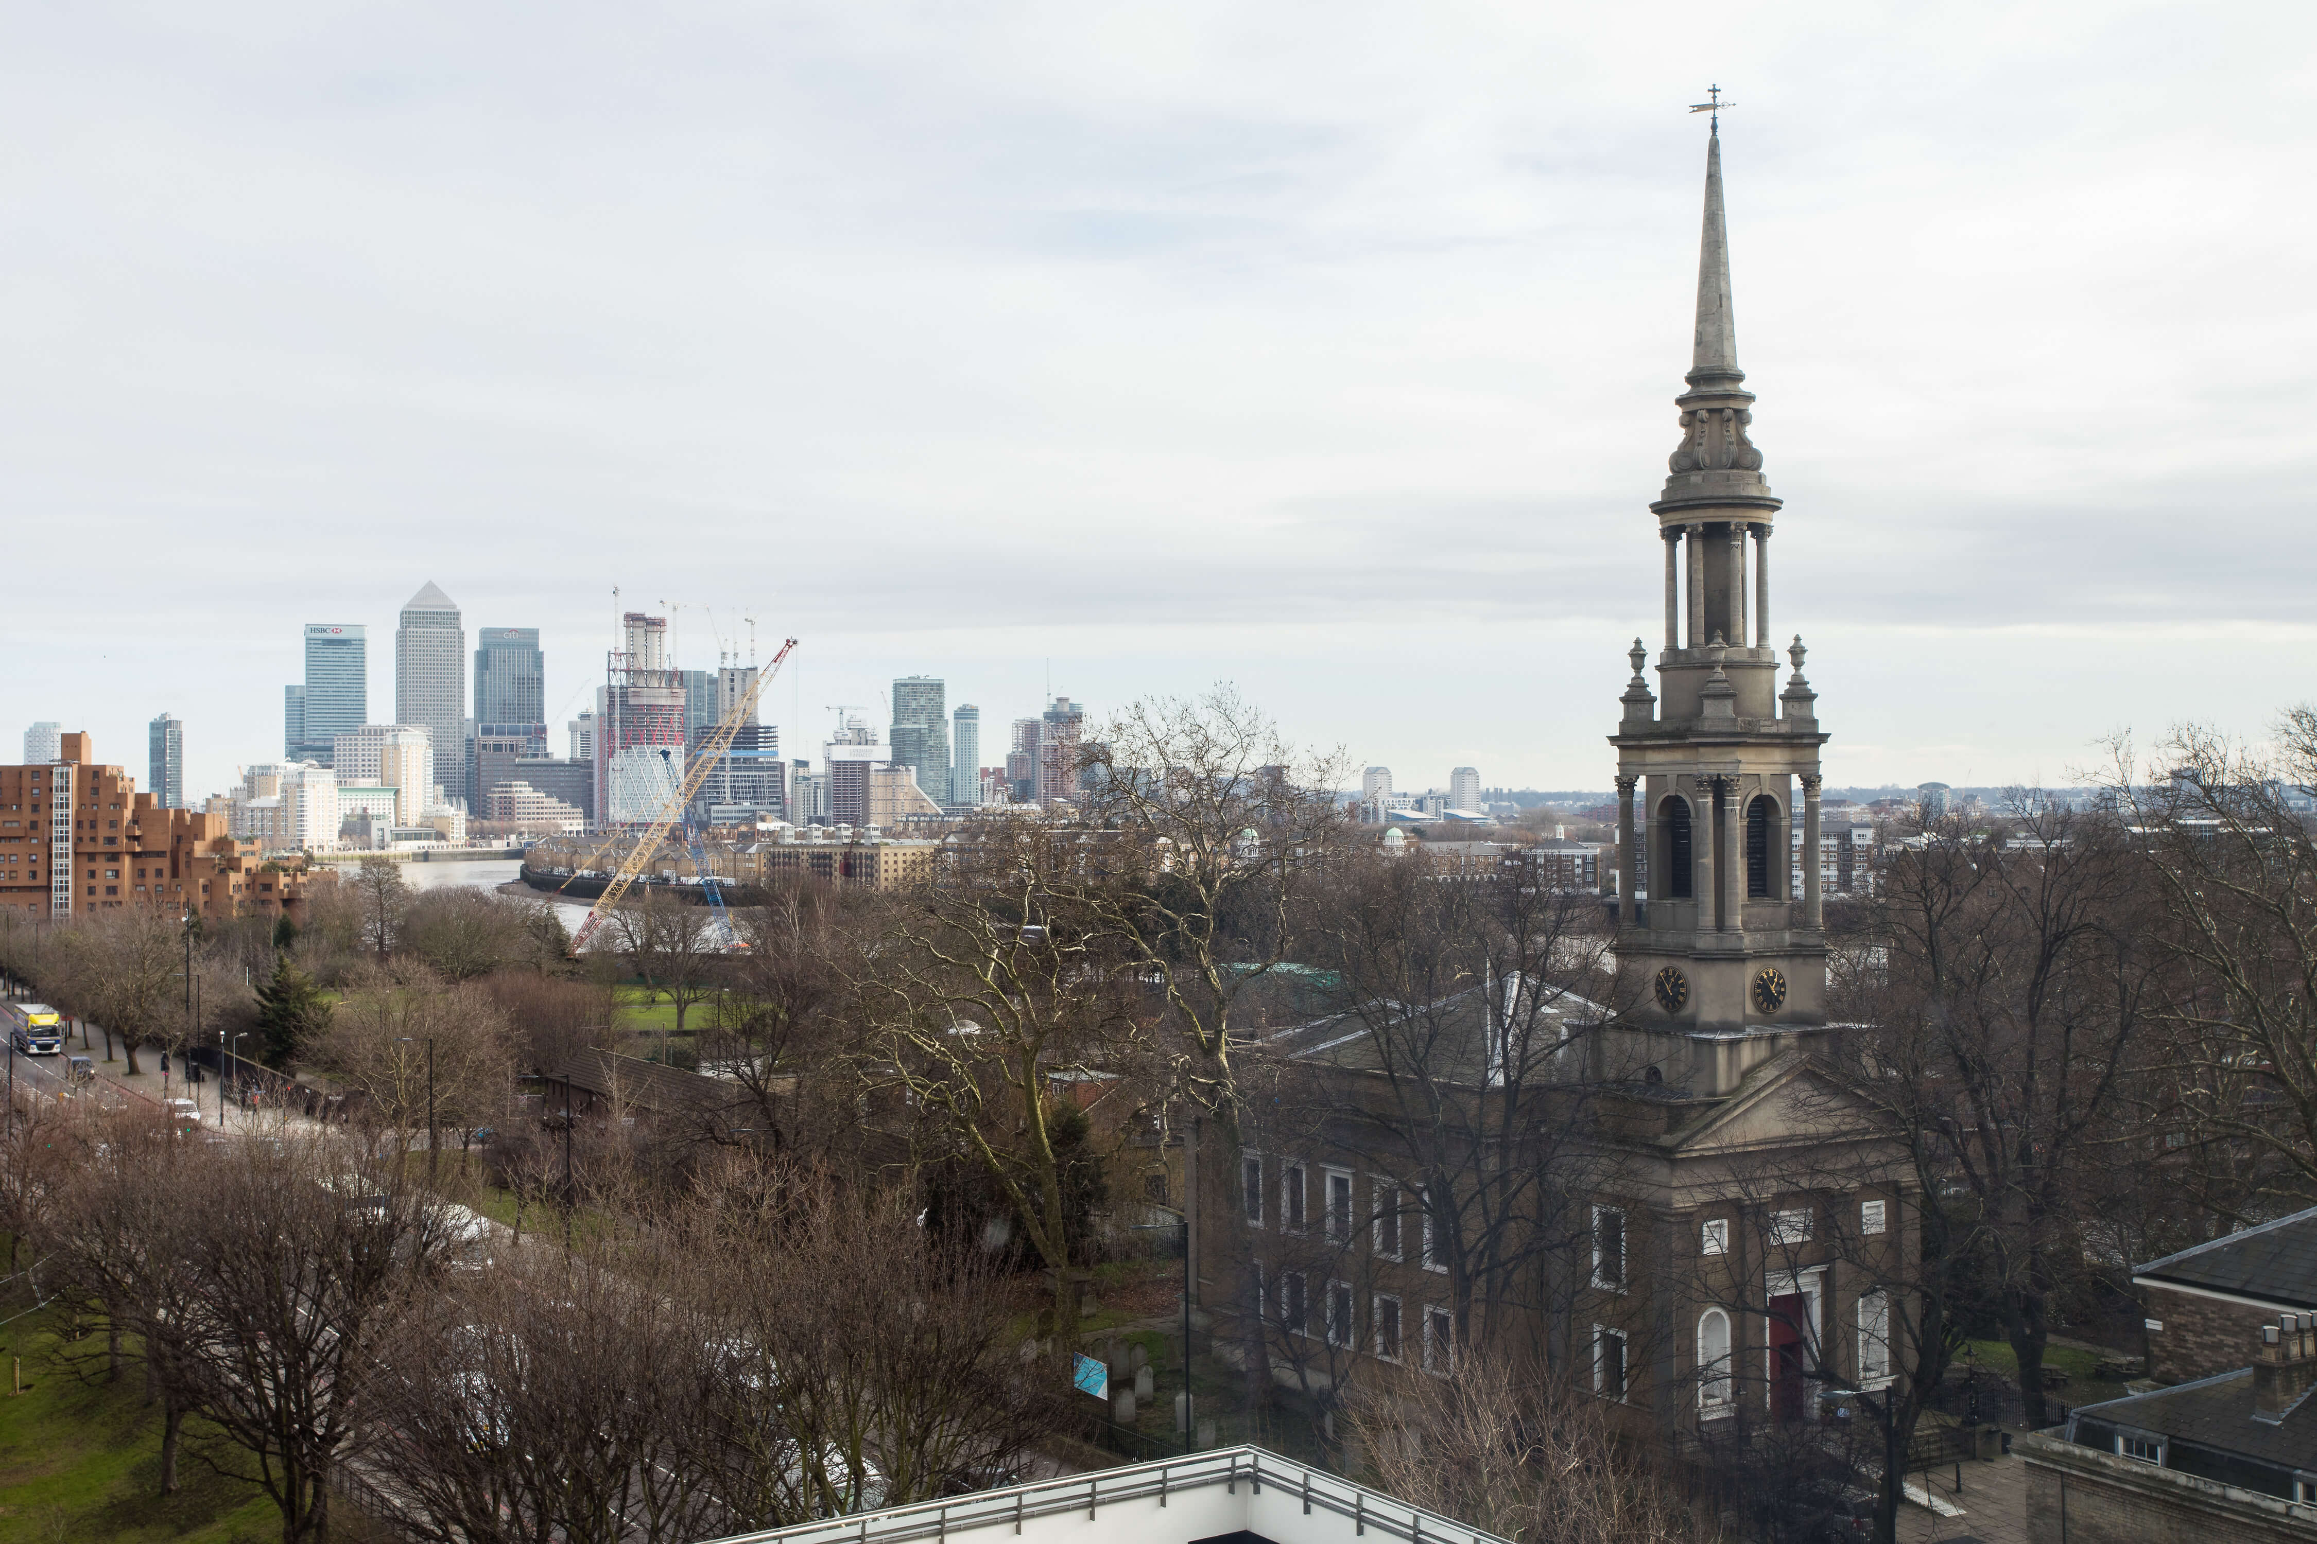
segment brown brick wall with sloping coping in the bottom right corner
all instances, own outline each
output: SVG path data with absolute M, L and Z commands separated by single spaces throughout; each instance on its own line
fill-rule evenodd
M 2027 1537 L 2034 1544 L 2310 1544 L 2317 1505 L 2162 1470 L 2030 1433 Z

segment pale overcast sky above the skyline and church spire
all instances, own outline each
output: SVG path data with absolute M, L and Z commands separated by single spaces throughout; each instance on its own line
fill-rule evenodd
M 1719 81 L 1773 623 L 1828 780 L 2064 780 L 2310 697 L 2308 5 L 19 5 L 0 757 L 280 755 L 440 583 L 792 632 L 985 762 L 1233 678 L 1608 787 Z M 767 648 L 769 653 L 769 648 Z M 1052 662 L 1052 667 L 1047 667 Z M 561 743 L 561 736 L 558 736 Z M 790 738 L 788 743 L 795 743 Z

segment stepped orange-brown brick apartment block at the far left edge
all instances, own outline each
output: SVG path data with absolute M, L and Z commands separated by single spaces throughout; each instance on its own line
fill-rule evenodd
M 65 734 L 44 766 L 0 766 L 0 912 L 88 914 L 132 903 L 204 917 L 301 917 L 301 859 L 266 861 L 227 817 L 169 810 L 88 734 Z

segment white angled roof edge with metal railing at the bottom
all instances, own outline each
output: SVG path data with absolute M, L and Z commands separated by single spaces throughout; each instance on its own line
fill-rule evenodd
M 1506 1544 L 1492 1532 L 1467 1528 L 1434 1512 L 1423 1512 L 1393 1500 L 1381 1491 L 1369 1491 L 1339 1475 L 1311 1470 L 1260 1447 L 1226 1447 L 1191 1458 L 1168 1458 L 1163 1463 L 1138 1463 L 1121 1470 L 1096 1470 L 1091 1475 L 1068 1475 L 1064 1479 L 1040 1479 L 1026 1486 L 1001 1491 L 978 1491 L 938 1502 L 911 1507 L 887 1507 L 885 1512 L 862 1512 L 855 1516 L 832 1516 L 820 1523 L 795 1528 L 772 1528 L 765 1532 L 732 1535 L 716 1544 L 908 1544 L 908 1539 L 948 1539 L 950 1532 L 969 1528 L 1013 1528 L 1040 1516 L 1084 1512 L 1089 1521 L 1103 1507 L 1131 1500 L 1156 1498 L 1163 1507 L 1168 1495 L 1223 1486 L 1237 1493 L 1249 1486 L 1253 1495 L 1263 1486 L 1284 1491 L 1300 1500 L 1304 1514 L 1330 1512 L 1348 1523 L 1358 1535 L 1376 1532 L 1402 1544 Z

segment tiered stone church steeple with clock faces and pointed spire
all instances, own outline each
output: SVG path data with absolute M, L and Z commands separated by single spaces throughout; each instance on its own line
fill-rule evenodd
M 1620 933 L 1633 1028 L 1696 1093 L 1728 1093 L 1747 1067 L 1826 1023 L 1826 935 L 1819 900 L 1817 694 L 1803 681 L 1803 639 L 1779 688 L 1770 644 L 1770 532 L 1779 500 L 1749 438 L 1754 394 L 1738 368 L 1728 231 L 1722 215 L 1719 113 L 1705 141 L 1705 236 L 1698 331 L 1689 359 L 1682 442 L 1650 505 L 1666 549 L 1666 639 L 1657 692 L 1650 650 L 1633 639 L 1617 748 Z M 1791 831 L 1803 831 L 1803 894 L 1793 896 Z M 1638 838 L 1638 840 L 1636 840 Z M 1636 854 L 1647 850 L 1647 903 L 1636 907 Z M 1796 905 L 1800 900 L 1800 905 Z

